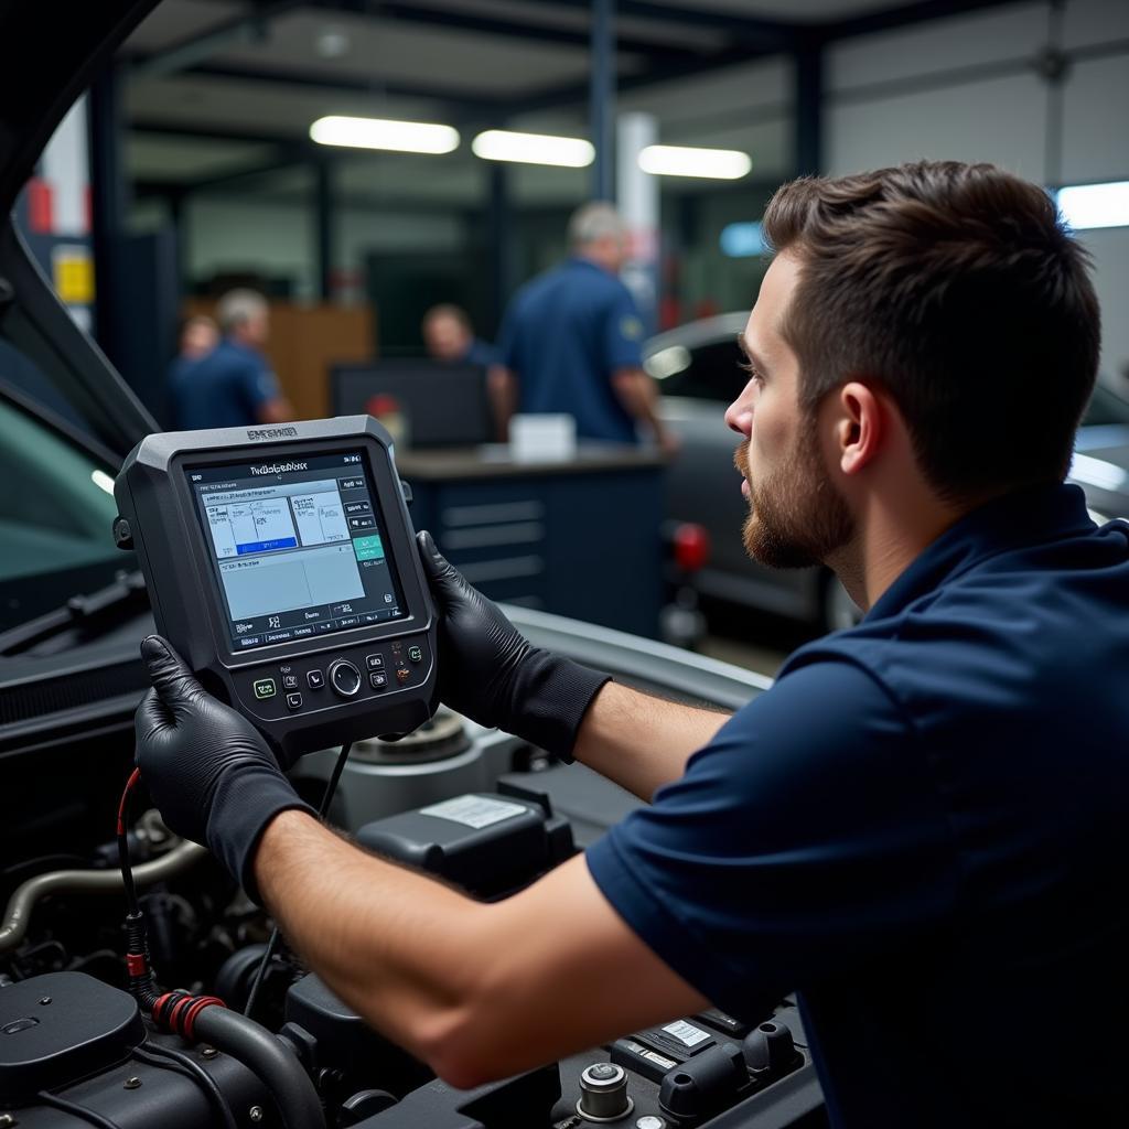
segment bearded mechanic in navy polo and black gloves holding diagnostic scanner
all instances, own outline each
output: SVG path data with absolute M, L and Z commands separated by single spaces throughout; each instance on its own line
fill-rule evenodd
M 861 624 L 726 719 L 532 647 L 421 533 L 445 701 L 653 800 L 497 904 L 322 826 L 156 637 L 143 779 L 456 1086 L 795 989 L 835 1126 L 1124 1123 L 1129 526 L 1064 484 L 1086 253 L 990 165 L 796 181 L 764 231 L 745 544 Z

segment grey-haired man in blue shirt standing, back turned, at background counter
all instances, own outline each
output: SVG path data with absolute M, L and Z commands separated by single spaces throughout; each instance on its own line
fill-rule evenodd
M 655 383 L 642 370 L 642 322 L 619 279 L 625 231 L 606 203 L 569 220 L 572 256 L 518 291 L 502 323 L 495 412 L 566 412 L 581 439 L 637 443 L 637 427 L 672 449 Z

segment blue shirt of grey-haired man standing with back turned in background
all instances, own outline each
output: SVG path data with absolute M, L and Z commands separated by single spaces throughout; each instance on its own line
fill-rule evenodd
M 631 291 L 587 259 L 569 259 L 518 291 L 499 351 L 517 376 L 518 411 L 567 412 L 584 439 L 637 443 L 612 374 L 641 368 L 642 322 Z

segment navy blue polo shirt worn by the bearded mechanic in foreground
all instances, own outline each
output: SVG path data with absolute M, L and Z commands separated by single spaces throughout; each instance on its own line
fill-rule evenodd
M 835 1126 L 1129 1123 L 1129 525 L 965 516 L 587 859 L 719 1007 L 798 994 Z

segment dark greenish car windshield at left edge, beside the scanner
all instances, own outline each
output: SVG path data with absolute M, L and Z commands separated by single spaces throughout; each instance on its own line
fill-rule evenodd
M 0 631 L 132 567 L 111 533 L 112 473 L 0 374 Z

